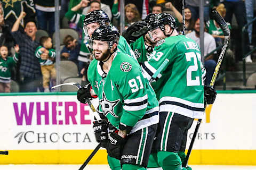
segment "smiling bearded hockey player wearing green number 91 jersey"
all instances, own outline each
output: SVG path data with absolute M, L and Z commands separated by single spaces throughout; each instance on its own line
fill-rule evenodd
M 92 34 L 95 60 L 89 66 L 90 85 L 77 92 L 85 103 L 91 88 L 99 97 L 99 112 L 119 129 L 105 145 L 108 155 L 126 169 L 146 169 L 158 123 L 158 103 L 137 61 L 117 52 L 119 31 L 100 26 Z

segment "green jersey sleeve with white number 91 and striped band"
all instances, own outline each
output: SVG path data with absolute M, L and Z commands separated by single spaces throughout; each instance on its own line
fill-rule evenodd
M 132 65 L 129 72 L 122 72 L 123 75 L 116 82 L 124 100 L 120 123 L 131 127 L 145 115 L 148 105 L 146 81 L 137 65 Z M 120 69 L 119 71 L 121 72 Z

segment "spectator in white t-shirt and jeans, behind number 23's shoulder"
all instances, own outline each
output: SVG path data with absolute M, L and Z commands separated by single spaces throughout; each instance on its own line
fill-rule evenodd
M 194 31 L 188 33 L 186 36 L 196 41 L 197 45 L 200 46 L 200 20 L 197 19 L 194 25 Z M 216 49 L 216 43 L 214 38 L 207 32 L 204 32 L 204 56 L 211 53 Z M 216 61 L 213 60 L 214 54 L 204 59 L 204 67 L 206 69 L 205 84 L 209 85 L 212 79 L 212 75 L 216 66 Z

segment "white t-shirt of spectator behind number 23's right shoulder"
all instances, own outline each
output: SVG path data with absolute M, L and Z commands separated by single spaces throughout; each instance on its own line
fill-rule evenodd
M 196 37 L 195 31 L 188 33 L 186 36 L 196 41 L 197 45 L 200 46 L 200 38 Z M 214 49 L 216 49 L 215 39 L 209 33 L 204 32 L 204 56 L 212 52 Z

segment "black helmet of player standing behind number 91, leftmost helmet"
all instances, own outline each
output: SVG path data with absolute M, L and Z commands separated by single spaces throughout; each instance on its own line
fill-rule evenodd
M 98 22 L 100 25 L 110 24 L 108 15 L 102 10 L 95 10 L 85 15 L 84 26 L 93 22 Z

